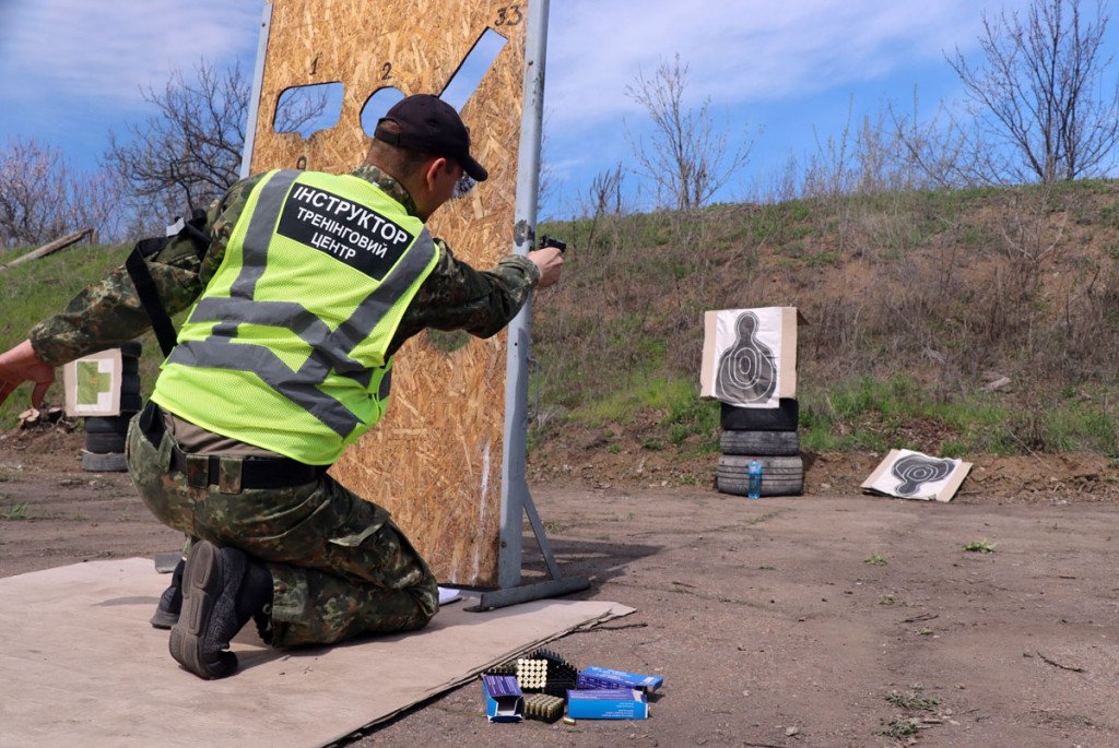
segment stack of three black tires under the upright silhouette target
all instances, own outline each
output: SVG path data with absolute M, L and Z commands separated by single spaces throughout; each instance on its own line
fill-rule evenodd
M 805 492 L 805 463 L 800 457 L 796 398 L 781 398 L 777 408 L 739 408 L 722 404 L 722 456 L 715 487 L 746 495 L 750 463 L 762 465 L 763 496 L 797 496 Z

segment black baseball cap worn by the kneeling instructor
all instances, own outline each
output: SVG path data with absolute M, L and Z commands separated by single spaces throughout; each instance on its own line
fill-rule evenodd
M 401 132 L 388 132 L 384 122 L 395 122 Z M 470 131 L 454 107 L 431 94 L 407 96 L 377 120 L 373 136 L 392 145 L 410 148 L 414 151 L 453 158 L 479 182 L 486 181 L 489 172 L 470 157 Z

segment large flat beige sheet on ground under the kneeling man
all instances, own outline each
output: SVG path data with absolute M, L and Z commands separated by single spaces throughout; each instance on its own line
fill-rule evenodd
M 0 579 L 0 745 L 319 746 L 633 612 L 599 600 L 489 613 L 454 603 L 422 632 L 293 651 L 264 646 L 250 625 L 232 647 L 241 670 L 203 681 L 148 625 L 168 579 L 140 558 Z

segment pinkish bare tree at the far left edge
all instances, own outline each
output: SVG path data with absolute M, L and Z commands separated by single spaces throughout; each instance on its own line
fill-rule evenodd
M 0 246 L 44 244 L 83 228 L 112 238 L 117 191 L 104 170 L 84 174 L 53 146 L 9 140 L 0 149 Z

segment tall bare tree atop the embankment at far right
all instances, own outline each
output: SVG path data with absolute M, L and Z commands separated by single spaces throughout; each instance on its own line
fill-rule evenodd
M 1094 21 L 1080 0 L 1034 0 L 1025 20 L 984 15 L 982 66 L 958 48 L 949 58 L 980 129 L 1012 149 L 1007 162 L 988 164 L 1002 181 L 1071 180 L 1115 163 L 1119 81 L 1103 79 L 1112 61 L 1103 54 L 1108 20 L 1102 0 Z

